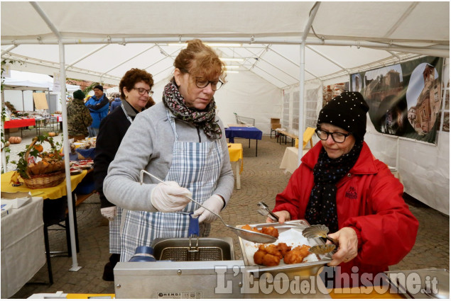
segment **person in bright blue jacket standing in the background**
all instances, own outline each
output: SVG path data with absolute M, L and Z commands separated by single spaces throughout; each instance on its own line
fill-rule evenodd
M 109 99 L 105 95 L 102 85 L 94 86 L 94 96 L 89 98 L 85 106 L 89 108 L 89 113 L 92 116 L 92 125 L 88 127 L 89 137 L 97 137 L 100 122 L 107 117 L 109 110 Z

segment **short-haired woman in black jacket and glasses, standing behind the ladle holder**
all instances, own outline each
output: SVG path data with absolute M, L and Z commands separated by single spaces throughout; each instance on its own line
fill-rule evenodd
M 125 133 L 129 130 L 136 115 L 148 106 L 148 99 L 153 93 L 152 86 L 152 74 L 135 68 L 127 71 L 119 82 L 121 103 L 116 110 L 112 110 L 102 120 L 99 135 L 97 135 L 94 183 L 99 192 L 100 212 L 109 220 L 109 253 L 112 254 L 104 267 L 102 278 L 106 281 L 114 281 L 113 269 L 121 254 L 119 225 L 121 224 L 122 208 L 116 207 L 109 198 L 105 197 L 103 181 Z

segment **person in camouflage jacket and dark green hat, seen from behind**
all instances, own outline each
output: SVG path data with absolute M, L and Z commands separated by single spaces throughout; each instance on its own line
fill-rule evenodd
M 77 141 L 83 140 L 89 135 L 87 127 L 92 124 L 92 117 L 83 102 L 85 93 L 77 90 L 73 96 L 73 100 L 67 104 L 67 132 L 69 139 L 74 138 L 74 141 Z

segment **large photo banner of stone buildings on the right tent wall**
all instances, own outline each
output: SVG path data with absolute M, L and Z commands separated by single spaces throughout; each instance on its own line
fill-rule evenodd
M 442 57 L 422 57 L 359 72 L 351 74 L 351 91 L 364 96 L 378 132 L 437 143 L 442 69 Z

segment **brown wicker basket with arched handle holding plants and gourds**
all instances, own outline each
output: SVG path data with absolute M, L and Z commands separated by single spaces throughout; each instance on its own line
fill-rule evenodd
M 45 141 L 49 142 L 50 145 L 53 147 L 53 142 L 45 139 Z M 28 146 L 27 152 L 25 154 L 25 161 L 28 163 L 28 157 L 30 155 L 31 149 L 33 149 L 34 144 L 38 142 L 37 137 L 33 139 L 31 144 Z M 56 151 L 55 151 L 56 153 Z M 55 154 L 57 155 L 57 154 Z M 26 174 L 28 178 L 23 178 L 23 182 L 25 183 L 25 186 L 32 189 L 39 189 L 39 188 L 49 188 L 58 186 L 58 184 L 62 183 L 66 177 L 65 170 L 56 171 L 53 173 L 48 174 L 38 174 L 38 175 L 32 175 L 30 174 L 30 171 L 28 168 L 26 169 Z

